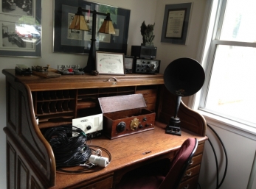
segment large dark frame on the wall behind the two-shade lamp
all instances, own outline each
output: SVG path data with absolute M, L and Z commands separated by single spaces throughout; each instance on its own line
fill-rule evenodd
M 131 10 L 122 9 L 106 4 L 99 4 L 83 0 L 54 0 L 53 23 L 53 52 L 89 54 L 91 48 L 91 31 L 69 29 L 77 8 L 90 10 L 91 13 L 83 13 L 87 24 L 91 29 L 92 11 L 110 13 L 116 34 L 101 34 L 96 32 L 96 51 L 109 51 L 126 54 L 128 46 L 128 29 Z M 97 15 L 96 31 L 100 29 L 105 16 Z

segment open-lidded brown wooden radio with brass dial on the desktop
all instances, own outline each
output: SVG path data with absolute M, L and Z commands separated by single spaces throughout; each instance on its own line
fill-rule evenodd
M 154 129 L 156 113 L 145 109 L 142 94 L 99 98 L 103 133 L 110 139 Z

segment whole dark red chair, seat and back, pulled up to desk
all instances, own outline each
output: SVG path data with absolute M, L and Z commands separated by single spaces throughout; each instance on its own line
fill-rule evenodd
M 115 189 L 176 189 L 190 164 L 198 146 L 196 138 L 188 138 L 182 143 L 173 161 L 159 160 L 122 176 Z

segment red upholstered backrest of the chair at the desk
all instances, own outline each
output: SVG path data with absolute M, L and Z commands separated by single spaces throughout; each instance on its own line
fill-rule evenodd
M 187 170 L 187 166 L 195 154 L 198 146 L 196 138 L 187 138 L 182 143 L 181 148 L 173 157 L 172 165 L 164 181 L 159 186 L 159 189 L 176 189 L 179 187 L 182 177 Z

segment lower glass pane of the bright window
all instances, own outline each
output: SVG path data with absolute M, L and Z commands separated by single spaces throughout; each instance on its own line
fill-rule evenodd
M 256 48 L 218 45 L 205 108 L 256 124 Z

